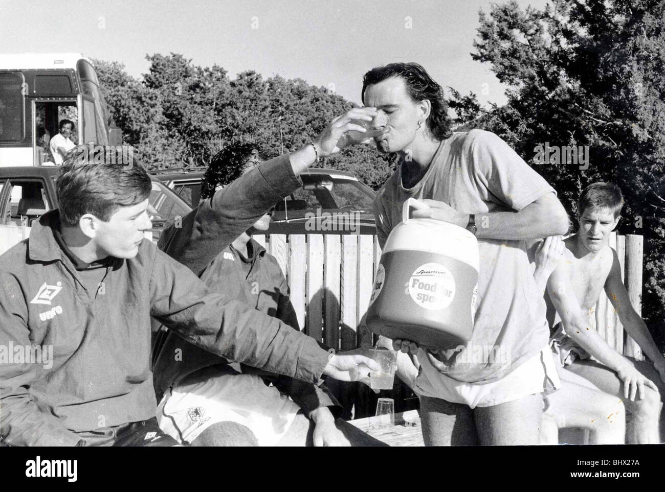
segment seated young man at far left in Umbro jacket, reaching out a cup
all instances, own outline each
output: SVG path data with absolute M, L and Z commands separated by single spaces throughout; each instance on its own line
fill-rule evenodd
M 2 444 L 176 444 L 155 418 L 151 316 L 219 357 L 312 383 L 323 373 L 351 380 L 360 364 L 378 369 L 362 355 L 330 355 L 278 319 L 210 292 L 144 240 L 150 177 L 113 151 L 120 149 L 106 149 L 100 161 L 87 147 L 72 149 L 57 180 L 59 210 L 0 256 Z M 266 203 L 279 198 L 269 177 L 257 187 Z M 215 195 L 199 212 L 218 207 Z M 231 222 L 235 236 L 254 220 Z M 205 242 L 199 223 L 190 225 L 190 239 Z

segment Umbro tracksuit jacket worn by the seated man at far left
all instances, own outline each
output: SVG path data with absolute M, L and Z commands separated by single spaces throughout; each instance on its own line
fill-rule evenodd
M 257 191 L 272 194 L 267 202 L 279 199 L 269 177 L 257 183 Z M 217 216 L 212 209 L 223 208 L 215 195 L 198 214 Z M 246 230 L 255 221 L 249 215 L 248 223 L 232 220 L 229 234 Z M 76 433 L 154 417 L 151 316 L 219 357 L 319 382 L 328 354 L 314 339 L 209 291 L 148 240 L 130 260 L 109 258 L 102 285 L 92 288 L 87 270 L 77 271 L 55 240 L 58 223 L 58 210 L 47 212 L 29 239 L 0 256 L 0 354 L 10 346 L 53 350 L 52 367 L 0 363 L 0 438 L 6 444 L 94 444 Z M 188 240 L 208 244 L 200 222 L 183 220 L 187 224 Z

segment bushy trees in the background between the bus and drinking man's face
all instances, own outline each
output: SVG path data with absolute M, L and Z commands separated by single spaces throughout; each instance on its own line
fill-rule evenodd
M 95 60 L 108 106 L 125 143 L 148 169 L 207 166 L 226 141 L 252 141 L 275 157 L 310 143 L 352 104 L 322 87 L 248 70 L 230 79 L 220 66 L 199 67 L 180 54 L 154 54 L 136 80 L 118 62 Z M 321 165 L 350 171 L 378 188 L 394 166 L 370 146 Z

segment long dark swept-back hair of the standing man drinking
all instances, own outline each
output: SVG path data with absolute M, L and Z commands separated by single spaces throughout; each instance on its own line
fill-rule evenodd
M 425 122 L 426 126 L 438 140 L 450 137 L 452 120 L 448 116 L 448 102 L 444 97 L 444 90 L 418 63 L 390 63 L 372 68 L 362 77 L 360 97 L 363 104 L 367 86 L 378 84 L 390 77 L 400 77 L 404 80 L 406 90 L 414 102 L 429 100 L 432 109 Z

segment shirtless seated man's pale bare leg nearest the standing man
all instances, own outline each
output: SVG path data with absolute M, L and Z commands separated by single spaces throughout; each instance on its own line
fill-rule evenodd
M 626 410 L 621 399 L 595 389 L 569 370 L 559 368 L 559 378 L 561 389 L 545 396 L 548 407 L 544 412 L 557 428 L 589 429 L 589 444 L 624 444 Z

